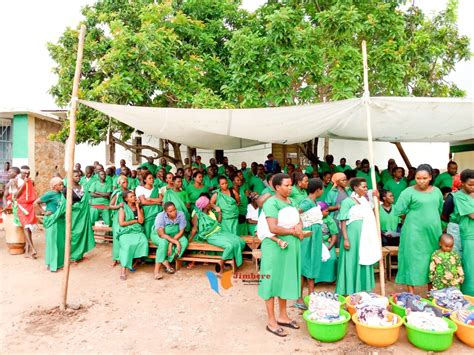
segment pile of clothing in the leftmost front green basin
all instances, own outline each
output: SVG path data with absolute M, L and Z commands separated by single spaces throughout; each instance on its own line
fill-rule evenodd
M 341 302 L 332 292 L 313 292 L 309 296 L 308 318 L 318 322 L 337 322 L 344 320 L 340 315 Z

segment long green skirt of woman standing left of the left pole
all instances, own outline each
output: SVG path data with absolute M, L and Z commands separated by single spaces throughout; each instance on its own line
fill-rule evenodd
M 46 250 L 44 262 L 50 271 L 57 271 L 64 266 L 64 248 L 66 237 L 66 221 L 59 218 L 45 230 Z

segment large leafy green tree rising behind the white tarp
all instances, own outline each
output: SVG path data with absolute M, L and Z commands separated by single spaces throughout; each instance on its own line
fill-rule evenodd
M 446 80 L 457 62 L 470 59 L 454 0 L 433 18 L 395 0 L 273 0 L 255 13 L 239 6 L 237 0 L 102 0 L 84 8 L 81 97 L 207 108 L 360 97 L 363 39 L 372 95 L 464 95 Z M 51 93 L 60 105 L 70 99 L 76 37 L 67 29 L 49 44 L 59 77 Z M 82 107 L 78 121 L 79 141 L 105 139 L 109 120 L 101 114 Z M 133 131 L 114 120 L 110 127 L 123 140 Z M 313 143 L 301 149 L 316 162 Z

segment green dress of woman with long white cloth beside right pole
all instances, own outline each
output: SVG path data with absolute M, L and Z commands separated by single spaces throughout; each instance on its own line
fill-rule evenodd
M 346 198 L 341 203 L 339 220 L 348 221 L 349 212 L 356 202 L 352 198 Z M 339 248 L 339 261 L 337 265 L 336 293 L 340 295 L 351 295 L 361 291 L 371 291 L 375 287 L 373 265 L 359 264 L 359 243 L 362 231 L 362 220 L 352 221 L 346 226 L 349 239 L 349 250 L 344 248 L 341 241 Z

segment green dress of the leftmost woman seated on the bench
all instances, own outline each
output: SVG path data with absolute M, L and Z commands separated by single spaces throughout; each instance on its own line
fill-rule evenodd
M 124 205 L 122 209 L 125 212 L 124 220 L 126 222 L 136 219 L 128 204 Z M 148 255 L 148 240 L 140 223 L 134 223 L 126 227 L 119 225 L 117 239 L 120 246 L 119 260 L 122 267 L 131 269 L 133 259 Z

